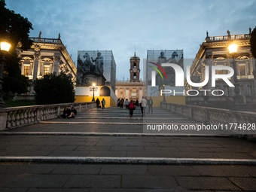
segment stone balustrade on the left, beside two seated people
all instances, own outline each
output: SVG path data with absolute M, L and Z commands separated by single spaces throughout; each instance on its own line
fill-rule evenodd
M 33 105 L 0 109 L 0 130 L 13 129 L 50 120 L 62 114 L 66 106 L 74 107 L 78 112 L 95 108 L 96 102 L 74 102 L 53 105 Z

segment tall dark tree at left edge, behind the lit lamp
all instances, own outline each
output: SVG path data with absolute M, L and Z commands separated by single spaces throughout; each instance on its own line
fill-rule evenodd
M 33 41 L 29 39 L 32 23 L 20 14 L 5 8 L 5 0 L 0 0 L 0 39 L 5 39 L 11 44 L 8 54 L 5 54 L 5 69 L 3 77 L 3 91 L 9 93 L 26 93 L 27 78 L 21 75 L 20 59 L 17 56 L 17 45 L 21 50 L 28 50 Z

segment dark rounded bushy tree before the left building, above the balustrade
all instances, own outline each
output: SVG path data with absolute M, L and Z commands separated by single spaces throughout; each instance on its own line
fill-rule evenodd
M 66 103 L 75 101 L 72 78 L 61 72 L 51 73 L 34 81 L 35 100 L 38 105 Z

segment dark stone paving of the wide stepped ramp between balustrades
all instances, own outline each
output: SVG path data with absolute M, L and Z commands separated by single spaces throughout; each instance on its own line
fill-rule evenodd
M 152 122 L 158 117 L 172 123 L 197 123 L 160 108 L 154 112 L 147 116 Z M 230 136 L 79 135 L 142 133 L 142 125 L 131 124 L 143 123 L 141 116 L 139 110 L 131 119 L 124 109 L 94 109 L 79 113 L 75 119 L 7 130 L 4 133 L 14 135 L 0 135 L 0 156 L 256 159 L 254 143 Z M 45 136 L 42 132 L 54 134 Z M 256 166 L 2 162 L 0 191 L 256 191 Z

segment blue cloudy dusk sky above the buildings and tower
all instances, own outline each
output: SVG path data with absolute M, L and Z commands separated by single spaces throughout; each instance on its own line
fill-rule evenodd
M 256 25 L 254 0 L 5 0 L 27 17 L 31 37 L 58 38 L 76 62 L 78 50 L 112 50 L 117 80 L 130 78 L 130 56 L 147 50 L 184 50 L 194 59 L 209 36 L 248 34 Z M 141 74 L 142 75 L 142 74 Z

